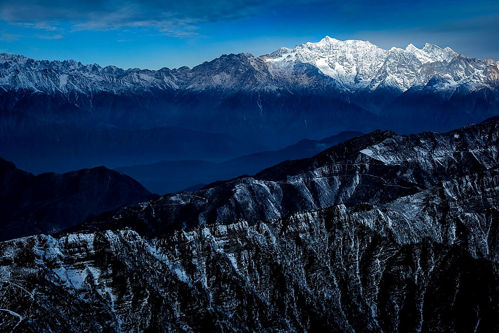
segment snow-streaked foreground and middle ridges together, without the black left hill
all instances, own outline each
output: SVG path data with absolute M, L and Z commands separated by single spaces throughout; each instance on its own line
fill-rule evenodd
M 499 330 L 499 122 L 375 131 L 0 243 L 7 332 Z

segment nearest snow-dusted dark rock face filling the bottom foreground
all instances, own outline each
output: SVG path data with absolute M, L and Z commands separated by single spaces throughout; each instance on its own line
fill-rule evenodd
M 0 243 L 18 331 L 491 332 L 497 170 L 383 205 L 146 240 L 132 230 Z M 15 296 L 14 296 L 15 295 Z M 15 315 L 13 315 L 14 313 Z

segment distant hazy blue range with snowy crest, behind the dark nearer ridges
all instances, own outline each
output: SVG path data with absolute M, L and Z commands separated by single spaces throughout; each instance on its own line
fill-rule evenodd
M 497 115 L 498 85 L 498 62 L 492 59 L 430 44 L 385 50 L 327 36 L 258 57 L 224 54 L 193 68 L 160 70 L 3 53 L 0 141 L 10 148 L 0 154 L 30 171 L 27 154 L 18 152 L 41 160 L 37 152 L 49 151 L 54 157 L 45 158 L 45 168 L 54 170 L 64 166 L 56 157 L 67 151 L 78 152 L 78 166 L 90 167 L 99 158 L 91 147 L 109 147 L 109 166 L 117 167 L 131 163 L 113 155 L 106 141 L 117 137 L 108 134 L 116 130 L 123 132 L 124 150 L 130 131 L 175 127 L 229 135 L 244 153 L 345 130 L 448 130 Z M 153 134 L 135 135 L 139 150 L 158 141 L 160 134 Z M 32 142 L 40 144 L 33 148 Z M 170 146 L 175 144 L 144 160 L 138 156 L 136 164 L 185 158 Z M 203 151 L 192 147 L 187 150 L 193 155 Z M 237 157 L 222 149 L 218 155 Z

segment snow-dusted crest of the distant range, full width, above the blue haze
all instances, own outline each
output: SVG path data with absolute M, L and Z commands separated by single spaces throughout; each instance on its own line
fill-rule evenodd
M 348 91 L 392 87 L 405 91 L 439 78 L 436 88 L 495 88 L 499 65 L 492 59 L 468 58 L 437 45 L 421 49 L 409 44 L 405 49 L 385 50 L 369 41 L 324 37 L 290 49 L 282 47 L 270 55 L 224 55 L 192 69 L 170 70 L 115 66 L 83 65 L 74 60 L 40 61 L 20 55 L 0 54 L 0 85 L 4 89 L 32 89 L 52 93 L 93 91 L 135 91 L 148 89 L 289 89 L 318 84 L 316 79 L 301 78 L 297 64 L 310 64 Z M 323 84 L 323 82 L 321 82 Z

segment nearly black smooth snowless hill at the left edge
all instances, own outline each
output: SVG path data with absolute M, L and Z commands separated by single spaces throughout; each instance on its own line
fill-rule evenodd
M 56 232 L 155 196 L 104 167 L 38 176 L 0 158 L 0 241 Z

